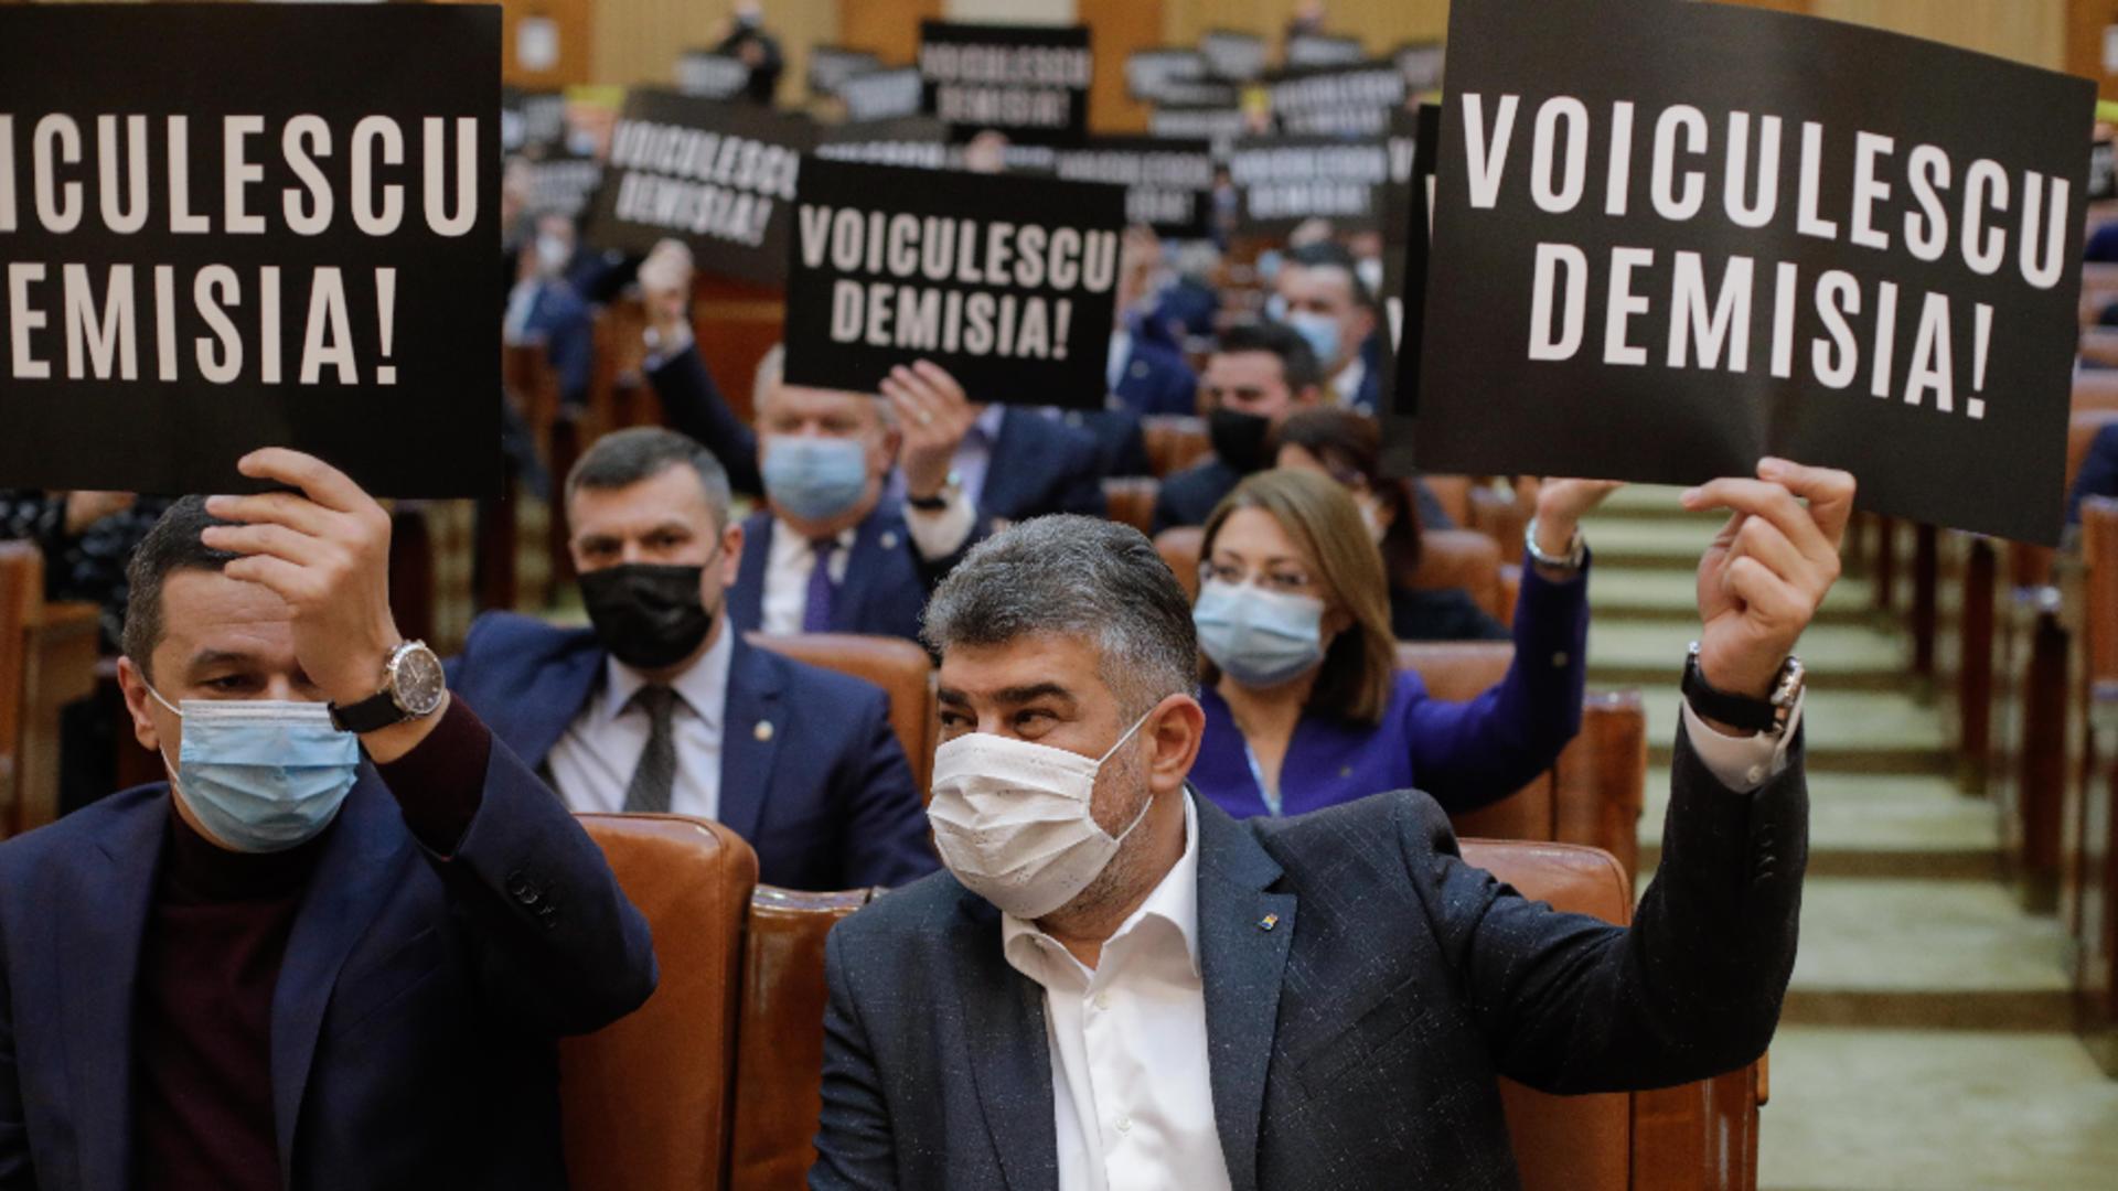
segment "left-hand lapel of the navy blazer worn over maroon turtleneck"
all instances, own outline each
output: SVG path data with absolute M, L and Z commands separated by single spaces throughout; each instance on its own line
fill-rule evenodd
M 167 786 L 161 790 L 97 839 L 97 863 L 51 907 L 85 1191 L 121 1191 L 131 1183 L 133 988 L 172 814 Z

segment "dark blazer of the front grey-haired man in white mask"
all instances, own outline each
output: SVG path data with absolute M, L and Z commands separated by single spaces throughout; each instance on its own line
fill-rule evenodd
M 1663 863 L 1631 930 L 1466 865 L 1442 810 L 1199 807 L 1199 964 L 1235 1191 L 1519 1185 L 1497 1077 L 1669 1087 L 1773 1038 L 1807 860 L 1800 746 L 1722 786 L 1680 733 Z M 1000 911 L 938 873 L 826 945 L 815 1191 L 1055 1191 L 1044 994 Z

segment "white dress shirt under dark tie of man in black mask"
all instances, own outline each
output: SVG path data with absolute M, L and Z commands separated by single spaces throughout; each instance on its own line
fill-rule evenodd
M 669 731 L 676 737 L 676 782 L 669 812 L 699 818 L 720 816 L 720 740 L 729 721 L 729 659 L 735 629 L 726 619 L 720 636 L 699 661 L 669 685 L 676 701 Z M 553 784 L 572 812 L 623 812 L 625 788 L 648 750 L 652 723 L 646 708 L 631 706 L 648 680 L 616 657 L 604 663 L 604 689 L 589 697 L 566 735 L 551 748 Z

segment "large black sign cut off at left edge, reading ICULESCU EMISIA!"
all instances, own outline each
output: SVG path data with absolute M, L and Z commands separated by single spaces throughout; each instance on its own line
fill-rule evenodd
M 0 485 L 493 492 L 498 193 L 498 8 L 0 8 Z

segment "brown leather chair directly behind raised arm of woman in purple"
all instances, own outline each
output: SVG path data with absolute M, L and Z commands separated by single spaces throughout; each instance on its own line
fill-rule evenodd
M 1470 699 L 1502 680 L 1510 642 L 1400 642 L 1398 668 L 1419 672 L 1436 699 Z M 1464 835 L 1601 848 L 1631 875 L 1648 784 L 1648 712 L 1639 691 L 1591 693 L 1582 729 L 1559 761 L 1514 795 L 1455 816 Z

